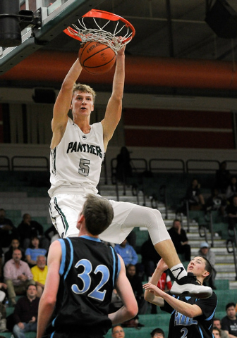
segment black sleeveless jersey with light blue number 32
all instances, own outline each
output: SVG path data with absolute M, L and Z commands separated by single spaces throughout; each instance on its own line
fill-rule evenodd
M 111 246 L 92 237 L 59 242 L 61 277 L 51 337 L 80 337 L 79 332 L 82 337 L 102 336 L 111 327 L 109 303 L 120 271 L 119 257 Z

